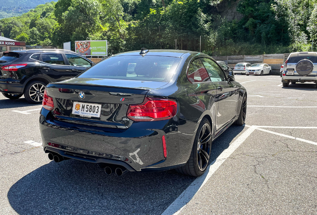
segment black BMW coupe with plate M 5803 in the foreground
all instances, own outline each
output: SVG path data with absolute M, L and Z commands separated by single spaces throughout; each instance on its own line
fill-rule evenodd
M 55 162 L 97 163 L 108 175 L 176 168 L 200 176 L 212 141 L 244 124 L 246 110 L 246 89 L 208 55 L 143 48 L 48 84 L 39 126 Z

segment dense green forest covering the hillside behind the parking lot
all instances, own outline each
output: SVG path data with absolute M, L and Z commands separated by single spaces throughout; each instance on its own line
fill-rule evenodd
M 1 19 L 0 31 L 60 48 L 68 41 L 108 40 L 109 54 L 175 49 L 175 40 L 177 49 L 199 51 L 200 36 L 201 51 L 213 56 L 308 51 L 317 37 L 316 1 L 58 0 Z M 238 18 L 226 16 L 228 10 Z

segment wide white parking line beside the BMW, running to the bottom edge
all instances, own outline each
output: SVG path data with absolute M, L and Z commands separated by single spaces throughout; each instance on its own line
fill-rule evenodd
M 196 178 L 186 190 L 162 213 L 162 215 L 178 215 L 180 211 L 186 206 L 186 204 L 195 196 L 195 194 L 202 188 L 202 186 L 208 181 L 208 179 L 214 174 L 214 172 L 220 167 L 220 165 L 243 143 L 248 136 L 255 130 L 255 127 L 251 126 L 244 131 L 238 139 L 236 139 L 230 146 L 225 149 L 216 160 L 212 161 L 207 167 L 206 172 Z

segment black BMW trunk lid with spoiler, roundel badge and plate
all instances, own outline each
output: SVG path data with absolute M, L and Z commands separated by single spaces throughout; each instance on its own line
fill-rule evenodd
M 133 123 L 126 116 L 129 105 L 141 104 L 149 90 L 160 88 L 165 84 L 167 83 L 75 78 L 49 84 L 46 91 L 48 96 L 53 97 L 52 112 L 55 120 L 124 129 Z M 99 110 L 97 106 L 101 107 L 101 112 L 98 112 L 100 117 L 76 114 L 76 108 L 79 111 L 83 105 L 85 108 L 87 105 L 95 106 L 96 111 Z

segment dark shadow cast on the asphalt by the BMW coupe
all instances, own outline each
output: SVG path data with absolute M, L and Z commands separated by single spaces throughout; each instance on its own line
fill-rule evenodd
M 210 160 L 228 148 L 243 128 L 233 125 L 220 135 L 213 142 Z M 95 164 L 66 160 L 50 162 L 24 176 L 7 198 L 19 215 L 160 215 L 194 180 L 174 170 L 107 176 Z

